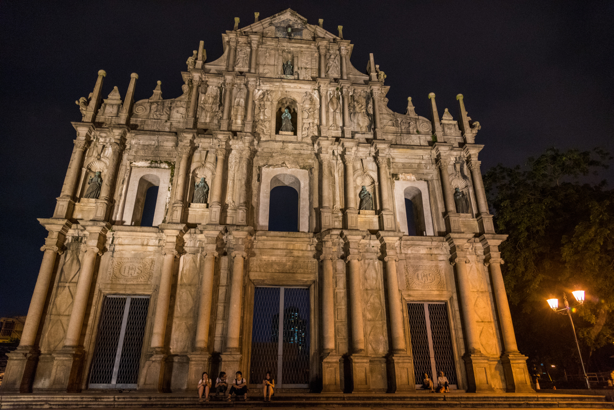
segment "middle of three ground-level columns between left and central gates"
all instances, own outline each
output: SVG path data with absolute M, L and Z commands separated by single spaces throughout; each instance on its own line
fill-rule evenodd
M 188 368 L 188 385 L 198 384 L 202 372 L 209 369 L 209 322 L 211 321 L 211 301 L 213 299 L 213 279 L 216 268 L 217 252 L 203 252 L 203 279 L 200 284 L 200 298 L 198 301 L 198 322 L 196 322 L 196 336 L 194 351 L 188 354 L 190 365 Z

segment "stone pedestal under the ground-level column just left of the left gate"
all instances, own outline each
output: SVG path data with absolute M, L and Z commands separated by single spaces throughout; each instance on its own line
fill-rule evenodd
M 83 351 L 79 347 L 64 347 L 53 354 L 51 383 L 48 392 L 78 393 L 79 374 L 83 364 Z

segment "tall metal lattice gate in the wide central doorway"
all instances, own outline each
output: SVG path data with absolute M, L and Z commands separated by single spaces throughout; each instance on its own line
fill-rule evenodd
M 270 371 L 278 387 L 309 387 L 310 314 L 309 289 L 255 288 L 251 384 Z

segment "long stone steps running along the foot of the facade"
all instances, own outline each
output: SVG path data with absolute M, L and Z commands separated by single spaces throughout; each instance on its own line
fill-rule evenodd
M 376 407 L 395 408 L 614 408 L 614 403 L 605 401 L 604 396 L 554 395 L 501 393 L 472 394 L 449 393 L 424 395 L 397 394 L 340 394 L 322 395 L 314 393 L 283 393 L 274 396 L 273 401 L 264 403 L 260 395 L 252 391 L 251 400 L 230 402 L 214 400 L 199 403 L 195 395 L 185 393 L 74 393 L 74 394 L 4 394 L 0 395 L 0 410 L 4 409 L 106 409 L 106 408 L 252 408 L 293 407 Z

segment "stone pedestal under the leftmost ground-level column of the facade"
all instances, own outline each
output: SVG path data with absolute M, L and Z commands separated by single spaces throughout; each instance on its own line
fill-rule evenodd
M 29 347 L 17 347 L 13 352 L 6 355 L 9 357 L 9 362 L 4 371 L 0 392 L 31 392 L 34 369 L 36 368 L 39 352 Z

